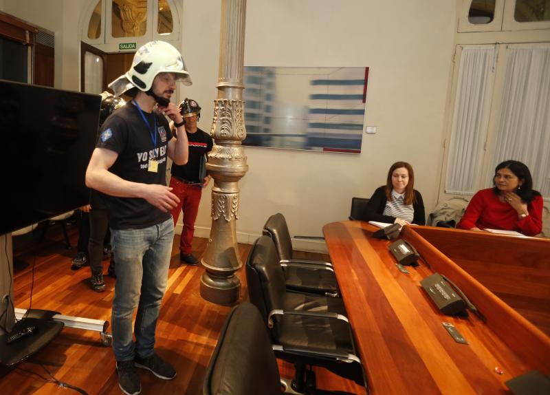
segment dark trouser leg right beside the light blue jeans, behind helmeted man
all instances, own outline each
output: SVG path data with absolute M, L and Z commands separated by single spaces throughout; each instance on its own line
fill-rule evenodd
M 88 259 L 92 275 L 102 273 L 103 247 L 110 245 L 109 212 L 107 210 L 91 209 L 89 212 Z

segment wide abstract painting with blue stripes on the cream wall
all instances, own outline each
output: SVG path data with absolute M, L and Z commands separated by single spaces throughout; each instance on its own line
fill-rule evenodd
M 360 153 L 369 67 L 246 66 L 243 145 Z

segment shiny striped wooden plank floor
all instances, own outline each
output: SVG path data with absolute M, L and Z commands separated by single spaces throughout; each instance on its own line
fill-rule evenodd
M 49 231 L 50 232 L 50 231 Z M 72 271 L 71 261 L 76 254 L 78 230 L 69 226 L 72 250 L 65 249 L 61 234 L 48 234 L 39 243 L 32 239 L 14 240 L 14 299 L 17 308 L 29 308 L 34 264 L 32 308 L 56 310 L 61 314 L 111 321 L 111 302 L 115 279 L 104 276 L 105 292 L 89 288 L 90 271 L 85 266 Z M 24 237 L 24 236 L 21 236 Z M 159 355 L 170 361 L 177 376 L 163 381 L 140 370 L 142 394 L 201 394 L 203 376 L 217 343 L 223 321 L 232 306 L 218 306 L 204 301 L 199 295 L 199 281 L 203 268 L 181 266 L 179 263 L 179 235 L 173 244 L 168 286 L 157 324 Z M 206 248 L 206 239 L 195 238 L 193 250 L 200 257 Z M 239 245 L 243 263 L 250 246 Z M 327 259 L 327 255 L 296 253 L 307 259 Z M 104 271 L 107 270 L 104 261 Z M 243 270 L 241 301 L 248 299 Z M 109 330 L 110 332 L 110 330 Z M 84 389 L 88 394 L 121 394 L 115 359 L 111 348 L 100 343 L 98 332 L 64 328 L 61 334 L 44 350 L 21 363 L 15 370 L 0 370 L 0 394 L 77 394 L 58 387 L 45 367 L 58 381 Z M 281 375 L 292 377 L 292 365 L 279 362 Z M 40 376 L 39 376 L 40 375 Z M 318 370 L 318 387 L 340 389 L 364 394 L 363 387 L 345 381 L 325 370 Z

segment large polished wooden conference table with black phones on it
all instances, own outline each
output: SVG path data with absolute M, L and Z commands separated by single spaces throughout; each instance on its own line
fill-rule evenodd
M 476 255 L 476 250 L 485 250 L 494 240 L 495 246 L 506 249 L 514 237 L 454 229 L 444 230 L 447 233 L 440 237 L 440 230 L 433 229 L 404 226 L 401 230 L 400 237 L 420 255 L 419 266 L 406 266 L 408 273 L 402 273 L 388 250 L 391 241 L 372 237 L 375 226 L 343 221 L 323 227 L 371 394 L 511 394 L 505 381 L 533 370 L 550 374 L 548 335 L 430 242 L 435 240 L 442 249 L 448 246 L 458 257 L 460 251 Z M 544 242 L 536 246 L 540 256 L 550 246 L 550 241 Z M 515 259 L 518 253 L 508 255 Z M 456 257 L 475 266 L 475 256 Z M 549 275 L 547 260 L 533 266 L 542 279 Z M 441 313 L 419 284 L 433 273 L 451 279 L 480 314 Z M 498 281 L 494 283 L 503 289 Z M 546 284 L 540 281 L 536 294 L 547 300 L 540 308 L 543 313 L 550 301 Z M 443 323 L 452 323 L 467 344 L 454 341 Z

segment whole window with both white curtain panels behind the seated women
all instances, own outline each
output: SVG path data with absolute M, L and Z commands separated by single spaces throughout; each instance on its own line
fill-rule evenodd
M 457 55 L 443 193 L 473 195 L 498 163 L 519 160 L 550 202 L 550 44 L 459 45 Z

